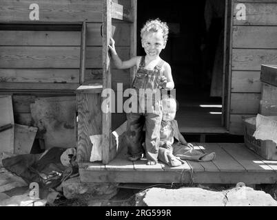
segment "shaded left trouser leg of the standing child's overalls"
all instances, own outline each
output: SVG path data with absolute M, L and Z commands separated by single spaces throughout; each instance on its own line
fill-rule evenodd
M 128 153 L 134 157 L 143 153 L 144 117 L 140 113 L 127 113 L 126 144 Z

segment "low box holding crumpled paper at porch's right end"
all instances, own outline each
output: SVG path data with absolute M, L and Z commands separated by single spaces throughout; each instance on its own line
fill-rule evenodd
M 245 145 L 265 159 L 277 160 L 276 144 L 271 140 L 256 140 L 256 117 L 243 120 Z

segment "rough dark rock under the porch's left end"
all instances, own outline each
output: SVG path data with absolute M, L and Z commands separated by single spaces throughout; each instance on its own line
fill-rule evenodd
M 118 184 L 112 183 L 82 183 L 79 177 L 68 179 L 61 184 L 63 195 L 67 199 L 80 199 L 84 196 L 88 199 L 109 199 L 116 195 L 117 186 Z

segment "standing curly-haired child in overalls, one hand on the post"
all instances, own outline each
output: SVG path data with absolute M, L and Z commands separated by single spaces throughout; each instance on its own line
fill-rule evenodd
M 121 61 L 116 54 L 114 40 L 111 39 L 110 52 L 114 65 L 118 69 L 127 69 L 136 67 L 137 72 L 132 84 L 138 98 L 138 111 L 127 113 L 127 132 L 126 140 L 130 160 L 141 159 L 143 149 L 143 126 L 145 124 L 145 153 L 147 165 L 154 165 L 158 160 L 158 143 L 160 140 L 161 129 L 161 98 L 154 98 L 154 95 L 161 88 L 173 89 L 171 67 L 160 58 L 160 53 L 165 49 L 168 36 L 168 27 L 166 23 L 159 19 L 150 20 L 145 23 L 141 29 L 141 44 L 145 50 L 146 56 L 135 56 L 129 61 Z M 150 109 L 149 96 L 140 94 L 140 91 L 150 91 Z M 147 102 L 147 104 L 141 103 Z M 140 111 L 139 111 L 140 110 Z

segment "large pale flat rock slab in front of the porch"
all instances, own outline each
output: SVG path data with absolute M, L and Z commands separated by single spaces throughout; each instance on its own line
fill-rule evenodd
M 277 201 L 247 186 L 220 192 L 203 188 L 150 188 L 136 195 L 136 206 L 277 206 Z

